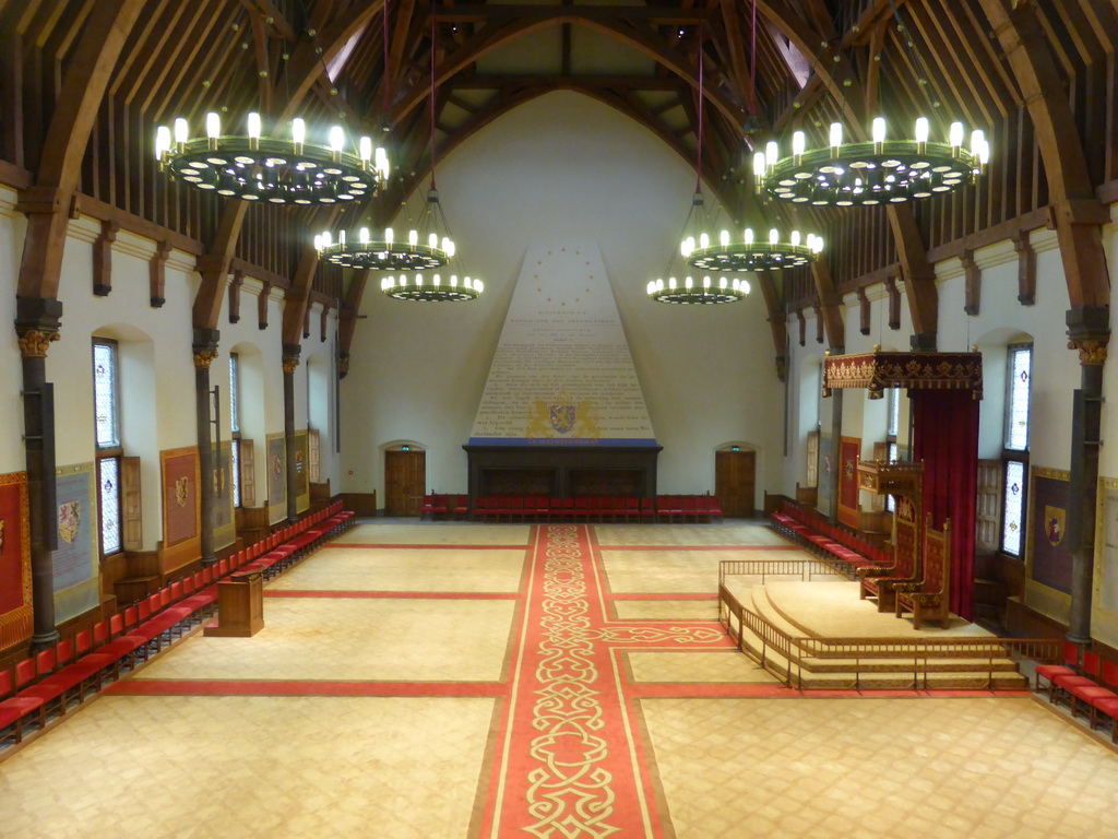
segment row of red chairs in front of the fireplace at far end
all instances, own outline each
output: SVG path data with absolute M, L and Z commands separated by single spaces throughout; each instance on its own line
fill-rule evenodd
M 468 505 L 468 496 L 424 496 L 420 518 L 471 517 L 501 521 L 716 521 L 722 507 L 716 496 L 579 496 L 551 498 L 537 494 L 481 496 Z

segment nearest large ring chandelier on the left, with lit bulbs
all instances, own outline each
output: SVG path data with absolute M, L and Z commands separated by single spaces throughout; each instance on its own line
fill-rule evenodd
M 388 179 L 388 154 L 362 136 L 345 148 L 345 132 L 330 129 L 328 144 L 306 142 L 306 124 L 292 120 L 290 138 L 262 133 L 260 115 L 248 114 L 247 133 L 221 133 L 221 119 L 206 115 L 206 135 L 190 136 L 178 117 L 173 131 L 155 131 L 155 158 L 172 177 L 203 191 L 269 204 L 337 204 L 376 195 Z

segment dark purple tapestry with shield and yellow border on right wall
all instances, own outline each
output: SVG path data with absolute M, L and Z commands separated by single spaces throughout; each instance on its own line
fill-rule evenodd
M 1070 473 L 1062 469 L 1029 470 L 1026 604 L 1063 622 L 1071 598 L 1071 546 L 1067 540 L 1069 479 Z

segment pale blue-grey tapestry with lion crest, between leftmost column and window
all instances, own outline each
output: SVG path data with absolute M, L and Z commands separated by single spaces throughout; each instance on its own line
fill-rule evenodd
M 94 609 L 101 600 L 97 566 L 96 465 L 78 463 L 55 470 L 54 552 L 55 620 L 68 621 Z

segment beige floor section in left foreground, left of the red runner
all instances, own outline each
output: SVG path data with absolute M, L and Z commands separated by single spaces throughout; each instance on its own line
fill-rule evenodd
M 3 763 L 0 835 L 465 837 L 493 701 L 102 697 Z

